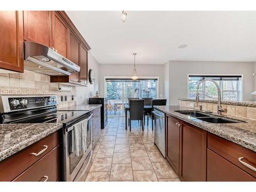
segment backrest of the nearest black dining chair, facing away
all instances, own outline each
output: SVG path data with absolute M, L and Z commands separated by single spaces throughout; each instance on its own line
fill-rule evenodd
M 130 100 L 130 118 L 131 120 L 142 120 L 144 112 L 144 99 Z

